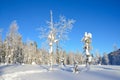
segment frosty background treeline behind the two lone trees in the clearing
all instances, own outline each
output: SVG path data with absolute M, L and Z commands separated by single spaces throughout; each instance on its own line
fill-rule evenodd
M 4 40 L 0 36 L 0 64 L 49 64 L 49 53 L 45 48 L 38 48 L 35 41 L 22 41 L 22 35 L 18 32 L 18 25 L 13 21 Z M 85 55 L 80 51 L 66 52 L 65 50 L 54 49 L 52 54 L 53 64 L 72 65 L 75 61 L 78 64 L 85 64 Z M 96 53 L 92 56 L 92 64 L 108 64 L 108 56 L 100 56 Z

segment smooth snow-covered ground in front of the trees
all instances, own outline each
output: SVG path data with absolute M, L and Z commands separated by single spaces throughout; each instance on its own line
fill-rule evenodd
M 0 80 L 120 80 L 120 66 L 79 66 L 73 73 L 72 66 L 0 65 Z

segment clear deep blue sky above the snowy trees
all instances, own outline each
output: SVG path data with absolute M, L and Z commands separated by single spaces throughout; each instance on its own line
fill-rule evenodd
M 70 40 L 64 46 L 67 51 L 83 51 L 80 40 L 84 32 L 93 34 L 93 52 L 111 52 L 113 44 L 120 47 L 120 0 L 0 0 L 3 38 L 11 22 L 16 20 L 23 41 L 29 38 L 40 47 L 42 41 L 36 29 L 50 20 L 50 10 L 54 20 L 59 15 L 76 20 L 68 35 Z

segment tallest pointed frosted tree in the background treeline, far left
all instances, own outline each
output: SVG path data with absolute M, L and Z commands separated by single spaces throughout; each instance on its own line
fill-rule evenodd
M 13 21 L 4 41 L 6 63 L 22 63 L 22 36 L 18 32 L 18 25 Z

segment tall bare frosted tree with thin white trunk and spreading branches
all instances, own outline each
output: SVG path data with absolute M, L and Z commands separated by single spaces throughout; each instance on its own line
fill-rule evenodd
M 52 68 L 52 55 L 54 43 L 67 39 L 67 34 L 72 29 L 75 21 L 67 20 L 65 17 L 60 17 L 58 22 L 53 21 L 52 11 L 50 11 L 50 21 L 47 22 L 48 27 L 40 28 L 40 38 L 46 38 L 50 46 L 50 65 Z

